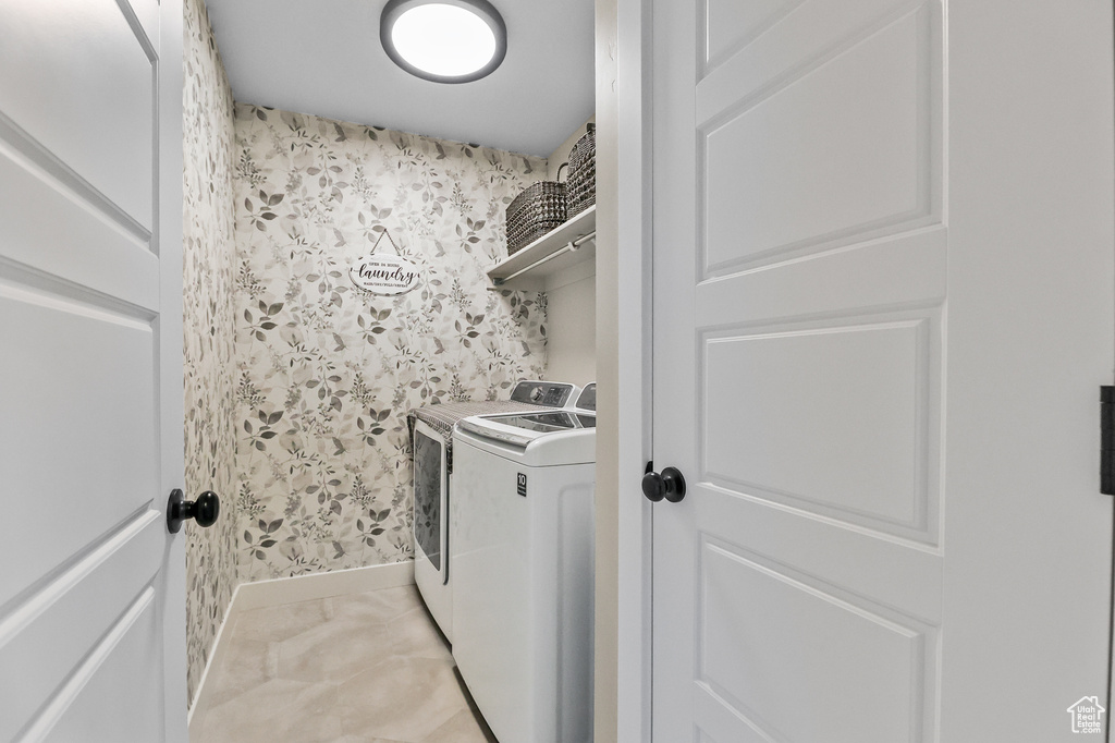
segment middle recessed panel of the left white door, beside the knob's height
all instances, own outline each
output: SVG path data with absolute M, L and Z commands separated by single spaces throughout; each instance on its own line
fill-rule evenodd
M 36 358 L 42 365 L 3 365 L 6 384 L 19 390 L 21 401 L 6 405 L 0 430 L 10 457 L 7 485 L 19 494 L 8 503 L 7 517 L 19 529 L 7 543 L 22 554 L 21 569 L 0 578 L 0 602 L 7 602 L 158 493 L 157 441 L 151 435 L 157 419 L 156 339 L 149 324 L 61 300 L 28 301 L 2 287 L 0 315 L 8 320 L 0 327 L 0 345 L 13 359 Z M 68 336 L 70 342 L 43 344 L 43 334 Z M 68 374 L 75 355 L 81 359 L 83 386 L 71 384 Z M 127 395 L 108 392 L 122 387 Z M 51 422 L 49 431 L 42 421 Z M 56 503 L 88 493 L 97 494 L 95 506 L 59 512 Z M 41 549 L 39 540 L 47 534 L 58 547 Z

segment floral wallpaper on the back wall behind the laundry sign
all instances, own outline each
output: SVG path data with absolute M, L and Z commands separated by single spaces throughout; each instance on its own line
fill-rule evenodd
M 407 560 L 407 411 L 544 375 L 544 296 L 485 269 L 545 161 L 243 104 L 235 136 L 239 575 Z M 348 277 L 385 230 L 398 297 Z

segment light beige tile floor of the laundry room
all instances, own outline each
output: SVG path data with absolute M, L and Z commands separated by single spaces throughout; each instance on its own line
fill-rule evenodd
M 414 586 L 231 620 L 193 743 L 496 743 Z

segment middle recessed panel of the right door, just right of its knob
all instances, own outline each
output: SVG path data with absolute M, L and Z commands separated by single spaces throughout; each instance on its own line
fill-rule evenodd
M 812 377 L 809 369 L 821 368 L 822 361 L 831 361 L 834 353 L 842 353 L 842 348 L 832 347 L 834 334 L 837 338 L 843 334 L 863 334 L 857 341 L 859 356 L 849 357 L 838 367 L 856 366 L 856 374 Z M 747 359 L 762 358 L 763 353 L 739 356 L 728 350 L 730 358 L 719 361 L 710 358 L 712 354 L 724 355 L 723 348 L 717 349 L 721 345 L 801 346 L 811 341 L 816 341 L 817 348 L 794 350 L 791 358 L 784 359 L 785 368 L 778 370 L 753 369 L 754 364 Z M 698 348 L 701 354 L 696 422 L 699 481 L 725 492 L 768 500 L 879 533 L 937 543 L 941 411 L 933 401 L 940 399 L 941 361 L 940 313 L 935 308 L 923 312 L 845 315 L 840 319 L 828 317 L 823 322 L 788 326 L 717 328 L 700 332 Z M 891 376 L 872 380 L 871 374 L 883 373 L 884 360 L 885 372 Z M 762 379 L 753 379 L 748 376 L 750 372 Z M 798 376 L 801 379 L 794 382 Z M 725 378 L 717 384 L 720 377 Z M 786 388 L 775 389 L 782 380 L 788 380 Z M 738 397 L 718 398 L 710 395 L 710 386 L 735 389 Z M 760 396 L 749 396 L 752 389 L 759 388 L 764 390 Z M 864 440 L 861 435 L 864 432 L 855 425 L 856 409 L 889 411 L 893 425 Z M 733 419 L 746 415 L 778 421 L 779 427 L 758 441 L 737 442 L 738 448 L 725 450 L 724 432 L 730 430 Z M 814 423 L 807 425 L 807 421 Z M 714 422 L 724 424 L 719 435 L 710 433 Z M 782 441 L 779 432 L 797 432 L 796 438 L 793 443 Z M 793 456 L 779 457 L 779 446 L 793 452 Z M 883 452 L 893 456 L 884 457 Z M 886 471 L 879 469 L 883 463 L 880 459 L 892 463 Z M 801 476 L 801 464 L 806 460 L 828 462 L 830 474 L 806 484 Z M 856 482 L 840 475 L 842 467 L 853 460 L 857 463 Z M 893 471 L 893 462 L 900 463 L 901 471 Z M 748 466 L 753 477 L 757 476 L 755 470 L 766 471 L 768 477 L 747 479 L 730 472 Z M 870 503 L 863 501 L 864 494 L 872 495 Z M 856 498 L 859 503 L 850 498 Z

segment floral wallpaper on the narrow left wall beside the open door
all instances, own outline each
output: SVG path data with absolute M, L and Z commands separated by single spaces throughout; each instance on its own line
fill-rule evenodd
M 202 0 L 184 3 L 185 492 L 222 499 L 210 529 L 186 522 L 187 687 L 193 699 L 236 586 L 232 89 Z

